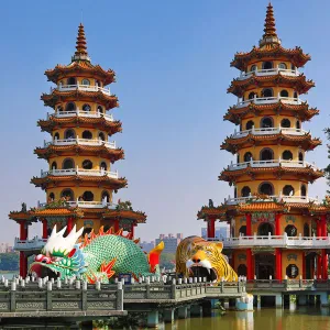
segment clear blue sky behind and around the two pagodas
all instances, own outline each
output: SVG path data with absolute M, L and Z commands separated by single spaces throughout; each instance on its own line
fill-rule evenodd
M 235 97 L 226 90 L 239 72 L 229 63 L 250 51 L 263 33 L 267 1 L 6 1 L 0 13 L 1 40 L 1 190 L 0 241 L 12 242 L 18 224 L 10 210 L 45 200 L 30 178 L 46 169 L 33 148 L 48 140 L 36 127 L 47 111 L 40 101 L 52 86 L 44 70 L 68 64 L 75 51 L 81 9 L 94 63 L 117 73 L 113 110 L 123 122 L 114 140 L 125 150 L 116 163 L 129 188 L 114 198 L 130 199 L 144 210 L 143 240 L 160 233 L 199 234 L 196 213 L 212 198 L 218 205 L 232 189 L 218 182 L 232 156 L 219 150 L 234 125 L 223 122 Z M 329 125 L 330 2 L 273 1 L 276 28 L 285 47 L 299 45 L 311 54 L 304 72 L 316 81 L 305 99 L 321 110 L 305 129 L 323 140 L 307 161 L 327 165 L 322 129 Z M 322 197 L 326 180 L 310 188 Z M 34 226 L 33 234 L 41 233 Z

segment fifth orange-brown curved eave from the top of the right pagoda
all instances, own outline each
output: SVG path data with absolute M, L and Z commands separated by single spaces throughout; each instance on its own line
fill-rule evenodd
M 229 170 L 223 169 L 219 175 L 218 179 L 222 182 L 228 182 L 230 184 L 235 183 L 238 178 L 243 175 L 248 175 L 251 178 L 255 178 L 258 174 L 273 174 L 275 178 L 283 178 L 284 175 L 295 175 L 305 177 L 308 182 L 312 183 L 316 179 L 322 177 L 324 174 L 322 170 L 314 170 L 311 167 L 250 167 Z

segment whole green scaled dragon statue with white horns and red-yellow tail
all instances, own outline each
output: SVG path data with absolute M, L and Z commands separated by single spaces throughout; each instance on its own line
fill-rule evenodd
M 98 234 L 86 234 L 84 241 L 76 243 L 84 228 L 76 231 L 76 226 L 67 237 L 63 237 L 66 227 L 56 232 L 56 226 L 41 254 L 30 266 L 30 274 L 37 277 L 78 276 L 89 283 L 109 283 L 109 278 L 119 274 L 140 276 L 160 276 L 160 255 L 164 249 L 161 242 L 148 254 L 133 241 L 131 234 L 114 233 L 110 228 Z

